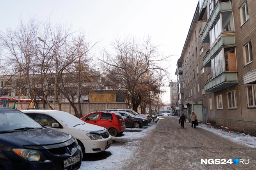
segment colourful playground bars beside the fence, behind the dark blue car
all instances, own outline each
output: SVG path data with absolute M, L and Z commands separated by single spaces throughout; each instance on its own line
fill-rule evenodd
M 8 98 L 0 97 L 0 106 L 1 107 L 10 108 L 9 106 L 11 106 L 11 102 L 13 104 L 12 108 L 14 108 L 14 109 L 24 110 L 22 108 L 22 102 L 23 103 L 25 102 L 25 110 L 36 109 L 35 106 L 34 106 L 34 102 L 32 100 L 30 100 L 30 99 L 28 99 L 28 100 L 24 100 L 24 99 L 8 99 Z M 20 102 L 20 103 L 18 103 L 18 102 Z M 15 108 L 16 104 L 20 105 L 20 108 Z M 32 105 L 32 108 L 31 108 L 31 105 Z M 23 106 L 24 106 L 24 104 L 23 104 Z

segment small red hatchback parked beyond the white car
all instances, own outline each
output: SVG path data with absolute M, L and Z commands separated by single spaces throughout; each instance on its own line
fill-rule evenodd
M 81 118 L 82 121 L 105 127 L 109 134 L 116 136 L 125 130 L 124 118 L 119 113 L 105 111 L 92 112 Z

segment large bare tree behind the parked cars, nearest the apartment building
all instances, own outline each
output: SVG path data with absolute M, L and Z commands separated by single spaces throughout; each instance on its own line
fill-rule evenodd
M 168 75 L 159 62 L 170 56 L 160 57 L 157 47 L 151 45 L 150 38 L 142 43 L 134 38 L 123 41 L 117 39 L 113 47 L 114 54 L 105 50 L 101 59 L 104 71 L 108 74 L 108 86 L 128 90 L 133 109 L 137 111 L 141 101 L 156 86 L 154 82 Z

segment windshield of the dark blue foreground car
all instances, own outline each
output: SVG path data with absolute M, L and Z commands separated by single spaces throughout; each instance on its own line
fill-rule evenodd
M 35 120 L 26 114 L 16 110 L 0 110 L 0 133 L 13 132 L 15 130 L 28 130 L 43 128 Z

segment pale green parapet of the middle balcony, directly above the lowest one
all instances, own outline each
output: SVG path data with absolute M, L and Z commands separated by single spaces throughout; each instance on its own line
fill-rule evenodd
M 235 45 L 235 33 L 221 33 L 221 37 L 219 40 L 215 43 L 215 45 L 212 47 L 210 52 L 203 58 L 203 67 L 211 67 L 211 57 L 217 50 L 222 47 L 222 45 Z

